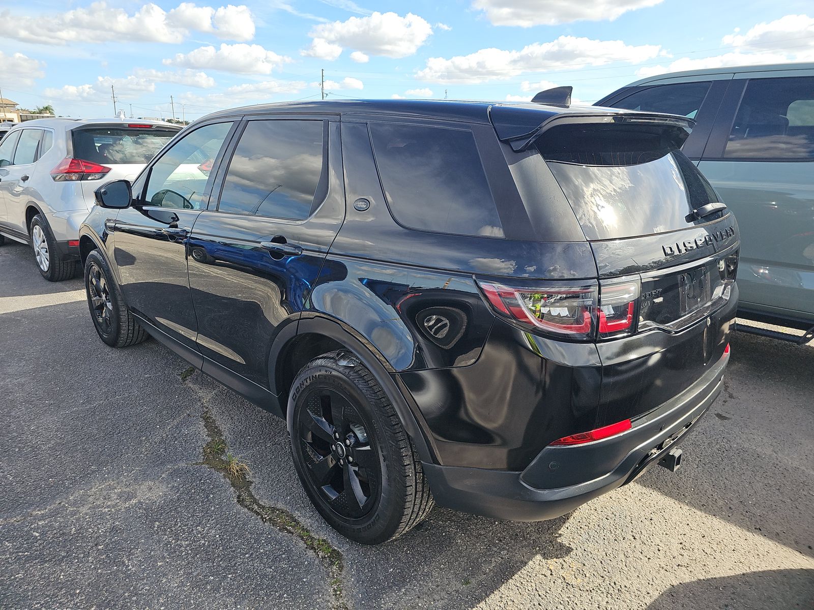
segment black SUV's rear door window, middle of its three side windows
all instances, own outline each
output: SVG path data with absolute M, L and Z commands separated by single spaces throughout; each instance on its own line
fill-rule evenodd
M 223 181 L 218 211 L 308 218 L 323 171 L 321 120 L 252 120 Z

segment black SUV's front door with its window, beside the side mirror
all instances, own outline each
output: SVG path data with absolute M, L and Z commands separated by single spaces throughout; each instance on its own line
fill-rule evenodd
M 164 150 L 134 185 L 133 205 L 107 220 L 127 304 L 156 327 L 195 349 L 198 323 L 187 275 L 188 236 L 207 206 L 214 176 L 200 159 L 216 159 L 234 121 L 205 124 Z M 188 167 L 199 171 L 190 175 Z

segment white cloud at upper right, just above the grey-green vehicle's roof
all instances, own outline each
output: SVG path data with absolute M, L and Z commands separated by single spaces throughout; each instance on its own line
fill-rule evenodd
M 814 18 L 786 15 L 778 20 L 755 25 L 745 34 L 728 34 L 721 40 L 733 50 L 712 57 L 683 57 L 667 65 L 643 66 L 637 75 L 655 76 L 665 72 L 814 61 Z

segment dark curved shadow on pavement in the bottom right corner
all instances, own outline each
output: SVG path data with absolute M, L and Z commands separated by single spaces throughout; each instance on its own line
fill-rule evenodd
M 654 599 L 647 610 L 765 610 L 812 608 L 814 570 L 784 569 L 705 578 L 675 585 Z

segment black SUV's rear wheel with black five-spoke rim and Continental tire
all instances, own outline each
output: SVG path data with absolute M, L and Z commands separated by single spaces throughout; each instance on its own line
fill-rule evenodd
M 397 538 L 433 507 L 421 462 L 370 371 L 342 351 L 313 359 L 289 400 L 294 466 L 313 505 L 362 544 Z

